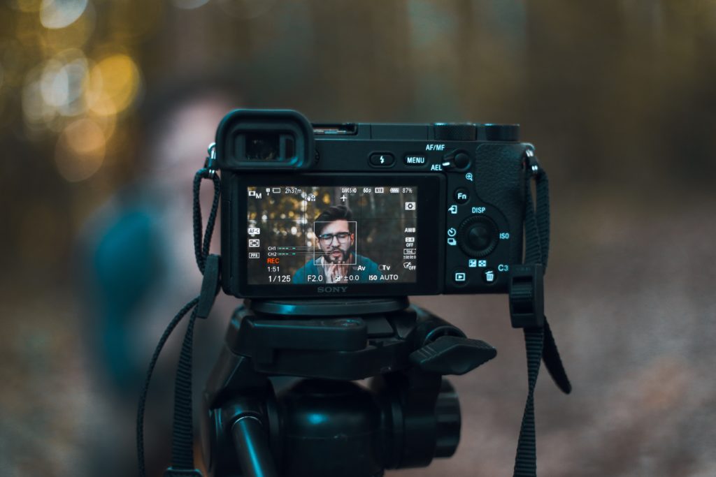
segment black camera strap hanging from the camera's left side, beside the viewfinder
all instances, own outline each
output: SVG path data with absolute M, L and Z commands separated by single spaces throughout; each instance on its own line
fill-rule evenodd
M 210 149 L 211 153 L 211 149 Z M 149 383 L 152 379 L 152 373 L 159 358 L 159 355 L 167 342 L 169 335 L 173 332 L 176 325 L 191 310 L 191 316 L 186 328 L 184 340 L 181 347 L 179 363 L 177 366 L 175 385 L 174 385 L 174 424 L 172 431 L 172 458 L 171 466 L 166 469 L 165 477 L 193 476 L 201 477 L 201 472 L 194 467 L 194 428 L 193 428 L 193 408 L 192 408 L 192 348 L 194 323 L 196 318 L 207 318 L 214 300 L 219 290 L 219 256 L 209 255 L 209 245 L 211 244 L 211 235 L 216 222 L 216 212 L 218 210 L 219 195 L 221 188 L 219 177 L 213 170 L 213 154 L 207 158 L 207 164 L 204 169 L 200 169 L 194 176 L 193 187 L 193 222 L 194 222 L 194 252 L 196 264 L 203 275 L 201 283 L 201 292 L 195 297 L 179 313 L 170 321 L 167 329 L 157 344 L 152 360 L 150 361 L 147 377 L 145 379 L 144 388 L 140 395 L 139 406 L 137 408 L 137 461 L 139 465 L 140 477 L 145 477 L 145 458 L 144 458 L 144 411 L 147 400 L 147 392 Z M 202 219 L 201 206 L 199 203 L 199 190 L 201 180 L 211 179 L 214 185 L 214 197 L 211 205 L 206 230 L 202 238 Z

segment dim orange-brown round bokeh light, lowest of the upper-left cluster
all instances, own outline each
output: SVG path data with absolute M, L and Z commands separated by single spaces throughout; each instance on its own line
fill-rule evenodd
M 105 160 L 107 139 L 97 122 L 77 119 L 67 125 L 57 139 L 55 164 L 68 182 L 92 177 Z

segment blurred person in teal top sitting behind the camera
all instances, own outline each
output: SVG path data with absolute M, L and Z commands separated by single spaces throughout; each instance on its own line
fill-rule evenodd
M 193 177 L 203 167 L 218 123 L 235 104 L 231 94 L 203 88 L 147 104 L 140 112 L 147 124 L 137 179 L 83 227 L 78 256 L 87 359 L 100 383 L 94 390 L 97 413 L 87 424 L 87 436 L 92 436 L 87 475 L 136 472 L 134 423 L 147 366 L 171 318 L 201 285 L 193 248 Z M 206 217 L 213 186 L 202 185 Z M 212 250 L 218 247 L 218 224 L 216 229 Z M 224 318 L 236 305 L 236 300 L 218 297 L 212 315 L 221 318 L 201 320 L 195 327 L 194 348 L 201 350 L 194 355 L 195 402 L 223 343 Z M 187 321 L 165 346 L 147 396 L 147 475 L 168 466 L 173 384 Z

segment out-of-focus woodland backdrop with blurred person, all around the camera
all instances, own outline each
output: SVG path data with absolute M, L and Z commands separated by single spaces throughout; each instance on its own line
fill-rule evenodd
M 550 174 L 546 312 L 574 384 L 538 382 L 539 474 L 716 476 L 715 49 L 714 0 L 3 2 L 4 475 L 135 473 L 142 374 L 200 284 L 193 173 L 228 110 L 281 107 L 520 123 Z M 527 380 L 505 297 L 413 302 L 498 357 L 453 379 L 455 456 L 389 475 L 509 475 Z M 236 305 L 198 324 L 197 392 Z

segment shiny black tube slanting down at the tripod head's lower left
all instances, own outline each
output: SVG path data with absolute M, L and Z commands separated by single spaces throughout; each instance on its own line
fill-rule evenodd
M 252 415 L 243 416 L 233 423 L 231 434 L 243 477 L 279 476 L 261 421 Z

